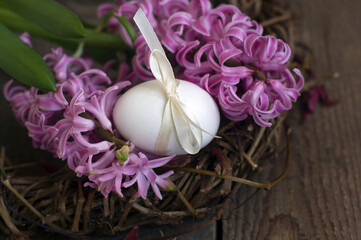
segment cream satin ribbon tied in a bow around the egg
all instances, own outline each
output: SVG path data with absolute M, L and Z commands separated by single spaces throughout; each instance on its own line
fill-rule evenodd
M 168 143 L 175 129 L 176 138 L 182 148 L 189 154 L 196 154 L 202 146 L 202 131 L 208 132 L 199 126 L 194 114 L 179 99 L 179 80 L 174 77 L 162 45 L 141 8 L 135 14 L 134 21 L 152 51 L 149 59 L 150 69 L 155 79 L 162 83 L 168 98 L 154 150 L 158 154 L 167 154 Z

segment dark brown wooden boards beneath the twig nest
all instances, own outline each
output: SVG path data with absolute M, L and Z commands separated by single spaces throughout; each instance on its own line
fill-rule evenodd
M 318 106 L 303 123 L 296 105 L 288 119 L 293 152 L 287 177 L 244 204 L 255 189 L 242 187 L 222 220 L 177 239 L 361 239 L 361 1 L 288 3 L 298 39 L 314 51 L 317 81 L 339 104 Z M 32 159 L 34 150 L 17 132 L 26 133 L 0 98 L 0 144 L 9 157 Z M 271 180 L 277 164 L 283 162 L 268 163 L 254 179 Z

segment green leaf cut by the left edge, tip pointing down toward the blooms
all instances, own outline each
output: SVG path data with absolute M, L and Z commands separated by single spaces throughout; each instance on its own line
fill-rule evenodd
M 2 24 L 0 68 L 27 85 L 45 91 L 56 91 L 54 76 L 42 57 Z

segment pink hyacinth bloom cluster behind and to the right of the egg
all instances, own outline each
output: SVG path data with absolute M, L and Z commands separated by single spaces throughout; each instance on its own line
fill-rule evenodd
M 226 117 L 244 120 L 252 116 L 260 126 L 292 107 L 304 79 L 299 70 L 291 72 L 290 47 L 273 36 L 238 8 L 209 0 L 120 0 L 104 4 L 98 16 L 115 10 L 132 21 L 141 7 L 169 53 L 177 78 L 196 83 L 218 102 Z M 150 50 L 141 34 L 134 43 L 114 19 L 108 25 L 135 48 L 132 67 L 138 78 L 151 80 Z

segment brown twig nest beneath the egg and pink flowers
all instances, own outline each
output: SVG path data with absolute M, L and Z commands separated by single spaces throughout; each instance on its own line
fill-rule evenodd
M 274 35 L 294 47 L 291 13 L 271 0 L 230 0 L 243 12 L 258 20 L 265 33 Z M 222 216 L 230 199 L 241 185 L 269 189 L 281 180 L 288 168 L 269 183 L 257 183 L 246 178 L 259 173 L 262 160 L 280 150 L 288 139 L 284 128 L 285 115 L 272 120 L 272 127 L 259 127 L 251 121 L 222 120 L 218 135 L 197 155 L 179 156 L 177 161 L 161 171 L 174 170 L 170 177 L 173 189 L 163 192 L 163 200 L 154 194 L 134 198 L 135 189 L 124 191 L 124 197 L 114 193 L 104 198 L 96 189 L 84 188 L 86 179 L 78 178 L 67 167 L 46 176 L 19 176 L 18 169 L 29 164 L 12 165 L 1 150 L 2 174 L 0 227 L 16 235 L 31 235 L 39 229 L 64 235 L 114 236 L 144 225 L 181 224 L 184 217 L 207 217 L 207 221 L 188 229 L 190 232 Z M 290 155 L 287 142 L 287 163 Z M 182 232 L 182 233 L 186 233 Z M 174 237 L 174 233 L 163 238 Z M 85 238 L 86 239 L 86 238 Z

